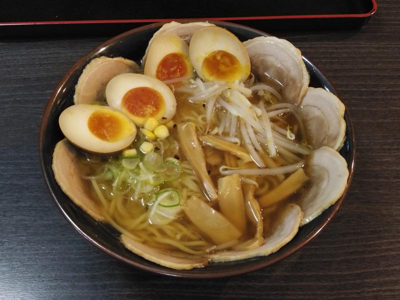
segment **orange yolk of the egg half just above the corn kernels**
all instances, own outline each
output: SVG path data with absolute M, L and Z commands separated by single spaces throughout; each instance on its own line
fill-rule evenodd
M 121 101 L 122 110 L 134 117 L 155 117 L 165 111 L 162 95 L 151 87 L 129 89 Z

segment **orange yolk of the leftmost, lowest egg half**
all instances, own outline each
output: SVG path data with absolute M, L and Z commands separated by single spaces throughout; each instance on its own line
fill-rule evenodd
M 123 116 L 110 109 L 98 109 L 90 114 L 87 126 L 91 133 L 105 141 L 116 141 L 130 133 L 130 123 Z

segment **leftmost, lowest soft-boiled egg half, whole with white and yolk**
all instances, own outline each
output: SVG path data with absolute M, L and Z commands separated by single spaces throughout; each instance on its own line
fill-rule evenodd
M 61 112 L 58 123 L 71 143 L 96 153 L 120 151 L 136 135 L 136 126 L 126 115 L 103 105 L 69 106 Z

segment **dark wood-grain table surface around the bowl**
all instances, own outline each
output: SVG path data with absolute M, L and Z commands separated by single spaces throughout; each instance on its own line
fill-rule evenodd
M 400 298 L 400 3 L 360 30 L 276 31 L 335 84 L 356 136 L 350 190 L 332 221 L 290 257 L 221 279 L 158 276 L 100 252 L 59 213 L 38 131 L 62 75 L 104 37 L 0 39 L 0 298 Z

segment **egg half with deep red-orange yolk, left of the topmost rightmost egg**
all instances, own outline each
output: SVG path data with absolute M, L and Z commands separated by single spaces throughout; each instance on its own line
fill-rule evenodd
M 144 74 L 167 83 L 192 78 L 193 66 L 189 61 L 189 46 L 175 34 L 156 36 L 148 49 Z

